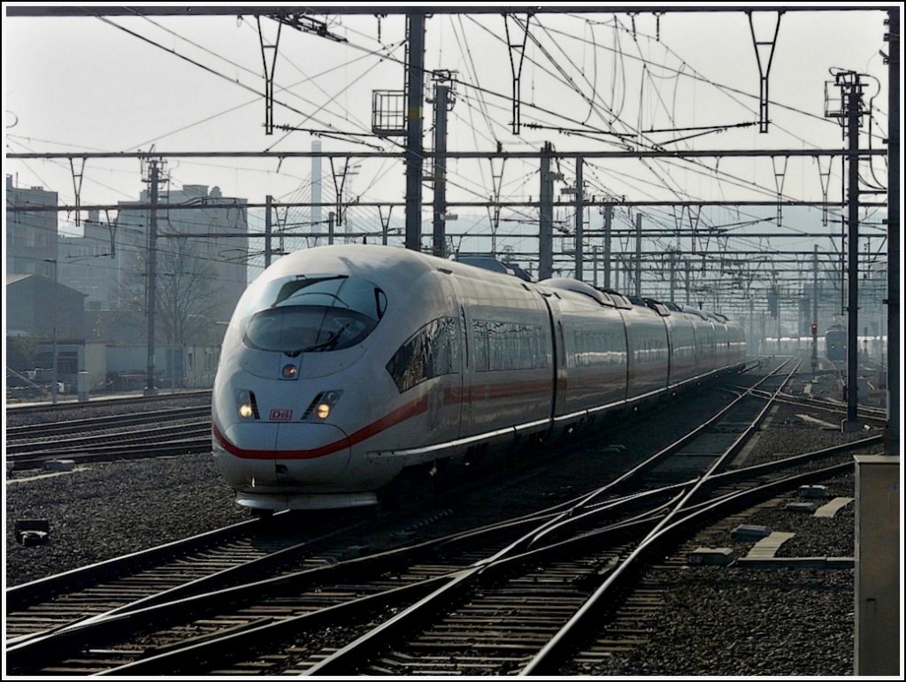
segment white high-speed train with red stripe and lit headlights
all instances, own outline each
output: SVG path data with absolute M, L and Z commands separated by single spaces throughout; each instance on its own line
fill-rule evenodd
M 744 354 L 722 316 L 401 248 L 323 246 L 281 258 L 237 304 L 214 457 L 252 509 L 375 504 L 408 467 L 572 432 Z

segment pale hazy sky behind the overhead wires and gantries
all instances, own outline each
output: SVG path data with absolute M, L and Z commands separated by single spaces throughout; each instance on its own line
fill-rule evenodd
M 805 4 L 785 6 L 796 5 Z M 500 144 L 510 151 L 535 151 L 545 141 L 563 150 L 652 144 L 665 149 L 837 149 L 841 129 L 824 118 L 825 82 L 833 81 L 834 69 L 869 76 L 866 99 L 878 95 L 872 101 L 872 145 L 881 146 L 887 130 L 887 67 L 879 53 L 887 50 L 885 13 L 782 16 L 770 66 L 766 134 L 757 126 L 759 71 L 746 13 L 656 17 L 641 4 L 638 13 L 532 17 L 520 76 L 519 135 L 510 125 L 513 77 L 505 28 L 508 42 L 519 43 L 522 26 L 500 14 L 430 16 L 426 68 L 457 72 L 448 149 L 492 150 Z M 517 17 L 525 22 L 525 14 Z M 753 14 L 759 41 L 773 36 L 776 17 Z M 310 150 L 313 139 L 321 139 L 325 150 L 399 150 L 401 139 L 368 134 L 371 92 L 403 86 L 404 17 L 318 18 L 347 42 L 284 27 L 275 64 L 274 119 L 278 126 L 342 133 L 342 139 L 314 138 L 309 131 L 265 135 L 262 48 L 254 16 L 4 17 L 5 149 L 131 151 L 153 145 L 162 151 L 280 151 Z M 262 18 L 261 26 L 273 42 L 275 22 Z M 763 68 L 767 56 L 763 48 Z M 517 65 L 518 54 L 513 57 Z M 425 115 L 429 148 L 430 105 Z M 868 125 L 866 117 L 863 145 L 869 141 Z M 403 200 L 400 160 L 367 159 L 354 166 L 345 197 Z M 329 173 L 326 160 L 324 168 Z M 568 184 L 572 162 L 560 169 Z M 839 161 L 828 170 L 830 198 L 839 198 Z M 885 178 L 882 159 L 873 170 Z M 177 186 L 217 185 L 227 197 L 253 202 L 267 194 L 285 201 L 310 196 L 308 159 L 173 159 L 169 172 Z M 537 197 L 534 159 L 509 161 L 502 172 L 504 198 Z M 73 201 L 72 174 L 64 160 L 5 158 L 5 173 L 14 174 L 19 186 L 43 185 L 57 191 L 61 203 Z M 451 161 L 449 198 L 487 199 L 500 173 L 499 161 L 494 168 L 487 160 Z M 590 160 L 584 176 L 591 195 L 640 200 L 771 199 L 780 190 L 789 199 L 822 198 L 821 172 L 811 158 L 790 158 L 786 168 L 769 158 Z M 82 204 L 134 199 L 143 187 L 134 159 L 90 160 L 82 182 Z M 333 196 L 329 175 L 324 192 Z M 426 202 L 430 196 L 426 189 Z M 401 217 L 401 208 L 395 210 Z M 427 206 L 425 218 L 430 218 Z

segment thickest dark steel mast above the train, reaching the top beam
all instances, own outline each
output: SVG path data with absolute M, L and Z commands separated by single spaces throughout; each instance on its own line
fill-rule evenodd
M 409 62 L 406 82 L 406 248 L 421 250 L 421 176 L 424 149 L 421 143 L 424 105 L 425 14 L 406 14 Z

